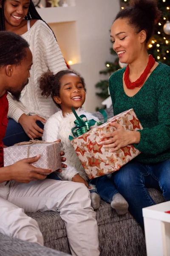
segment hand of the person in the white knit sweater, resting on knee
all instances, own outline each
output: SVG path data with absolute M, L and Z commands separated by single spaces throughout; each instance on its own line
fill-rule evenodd
M 36 139 L 42 137 L 43 130 L 36 124 L 36 121 L 39 120 L 41 122 L 46 122 L 42 117 L 35 116 L 27 116 L 26 114 L 22 114 L 18 120 L 20 125 L 22 125 L 25 133 L 28 135 L 30 139 Z

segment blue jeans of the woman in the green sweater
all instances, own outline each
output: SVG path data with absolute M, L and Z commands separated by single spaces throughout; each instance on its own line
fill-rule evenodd
M 156 204 L 147 191 L 155 188 L 170 201 L 170 159 L 156 164 L 127 163 L 111 177 L 129 204 L 129 212 L 144 228 L 142 208 Z

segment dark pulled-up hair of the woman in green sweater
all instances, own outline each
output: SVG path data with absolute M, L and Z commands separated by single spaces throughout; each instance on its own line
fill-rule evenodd
M 147 44 L 160 16 L 161 11 L 157 7 L 156 0 L 130 0 L 129 6 L 121 10 L 116 15 L 115 20 L 128 19 L 129 25 L 133 26 L 137 33 L 144 30 Z

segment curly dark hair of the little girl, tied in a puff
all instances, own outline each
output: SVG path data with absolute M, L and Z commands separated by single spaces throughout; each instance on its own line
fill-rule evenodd
M 75 70 L 62 70 L 62 71 L 59 71 L 56 75 L 54 75 L 51 71 L 48 71 L 48 72 L 43 73 L 40 76 L 40 78 L 38 79 L 38 83 L 40 85 L 40 90 L 42 90 L 41 95 L 46 96 L 47 98 L 49 96 L 51 96 L 55 105 L 57 105 L 57 107 L 60 109 L 61 109 L 61 107 L 59 104 L 57 104 L 57 102 L 55 102 L 54 96 L 59 96 L 59 89 L 61 86 L 61 83 L 60 83 L 61 78 L 62 78 L 62 76 L 68 75 L 68 74 L 75 74 L 75 75 L 79 76 L 79 78 L 81 79 L 83 88 L 86 92 L 85 81 L 82 78 L 82 76 L 80 76 L 80 74 L 78 72 L 76 72 Z

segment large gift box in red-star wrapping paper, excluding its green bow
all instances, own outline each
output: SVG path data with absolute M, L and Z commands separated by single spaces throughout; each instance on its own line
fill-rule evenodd
M 103 135 L 116 130 L 115 127 L 109 124 L 110 122 L 117 122 L 128 131 L 143 129 L 135 112 L 130 109 L 113 116 L 104 124 L 71 140 L 71 144 L 89 179 L 115 172 L 140 154 L 139 150 L 133 145 L 127 145 L 115 152 L 111 152 L 110 148 L 104 148 L 103 145 L 99 144 L 99 140 Z

